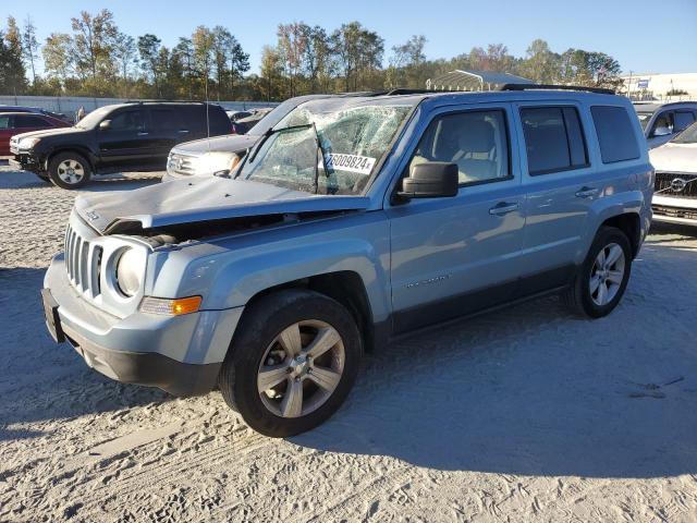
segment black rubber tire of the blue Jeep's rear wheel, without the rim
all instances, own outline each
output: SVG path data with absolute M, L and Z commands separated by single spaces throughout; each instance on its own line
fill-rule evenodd
M 592 266 L 600 250 L 604 248 L 611 243 L 616 243 L 617 245 L 620 245 L 622 252 L 624 253 L 624 278 L 615 296 L 606 305 L 598 305 L 592 301 L 592 296 L 590 295 L 590 289 L 588 285 L 590 281 L 590 271 L 592 270 Z M 576 283 L 576 291 L 580 297 L 580 305 L 584 312 L 591 318 L 601 318 L 610 314 L 622 300 L 624 291 L 627 288 L 631 273 L 632 246 L 626 234 L 624 234 L 620 229 L 615 229 L 613 227 L 606 227 L 601 229 L 596 235 L 596 239 L 594 240 L 592 245 L 588 251 L 588 256 L 584 262 L 578 281 Z

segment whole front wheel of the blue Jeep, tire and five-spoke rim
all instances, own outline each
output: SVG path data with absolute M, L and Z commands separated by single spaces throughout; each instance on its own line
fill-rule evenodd
M 298 324 L 299 336 L 293 337 Z M 337 336 L 338 341 L 330 345 Z M 320 338 L 328 341 L 316 348 L 331 348 L 311 357 L 309 343 Z M 296 357 L 290 349 L 293 345 L 302 346 Z M 303 354 L 308 357 L 298 363 Z M 358 328 L 343 305 L 313 291 L 280 291 L 260 297 L 245 311 L 222 365 L 219 387 L 228 405 L 254 430 L 274 438 L 294 436 L 320 425 L 341 406 L 358 374 L 362 354 Z M 278 374 L 268 384 L 280 381 L 261 391 L 260 373 L 270 376 L 271 372 Z M 319 387 L 317 381 L 327 377 L 331 379 Z M 298 398 L 297 391 L 302 392 L 299 409 L 292 401 Z

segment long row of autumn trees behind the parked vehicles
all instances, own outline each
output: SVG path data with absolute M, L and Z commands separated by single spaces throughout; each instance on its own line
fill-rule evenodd
M 455 69 L 509 72 L 540 83 L 617 87 L 620 63 L 603 52 L 554 52 L 534 40 L 524 57 L 503 44 L 429 60 L 427 39 L 414 35 L 386 57 L 384 39 L 359 22 L 327 31 L 303 22 L 280 24 L 265 46 L 258 73 L 230 29 L 198 26 L 167 47 L 155 34 L 121 32 L 113 13 L 83 11 L 71 33 L 37 38 L 30 17 L 13 16 L 0 31 L 0 94 L 282 100 L 310 93 L 424 88 Z M 387 60 L 387 63 L 386 63 Z M 42 63 L 42 66 L 40 66 Z

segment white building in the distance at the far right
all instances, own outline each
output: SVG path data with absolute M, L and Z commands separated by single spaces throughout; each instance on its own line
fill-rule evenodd
M 697 73 L 635 74 L 622 76 L 624 94 L 635 100 L 697 100 Z M 673 94 L 685 92 L 687 94 Z

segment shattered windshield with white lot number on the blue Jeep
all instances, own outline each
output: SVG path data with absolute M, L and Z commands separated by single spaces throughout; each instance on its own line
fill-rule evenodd
M 239 178 L 309 193 L 359 194 L 412 106 L 338 104 L 289 113 L 247 157 Z

